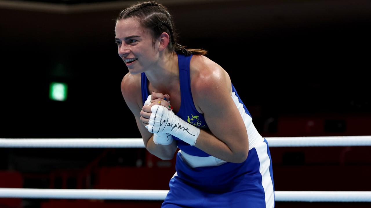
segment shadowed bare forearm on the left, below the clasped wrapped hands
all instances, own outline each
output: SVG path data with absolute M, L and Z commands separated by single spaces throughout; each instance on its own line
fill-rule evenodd
M 175 151 L 177 150 L 177 142 L 175 140 L 169 145 L 155 144 L 153 141 L 153 134 L 151 138 L 147 140 L 147 142 L 144 142 L 146 144 L 145 148 L 148 150 L 148 152 L 162 160 L 171 160 L 174 157 Z

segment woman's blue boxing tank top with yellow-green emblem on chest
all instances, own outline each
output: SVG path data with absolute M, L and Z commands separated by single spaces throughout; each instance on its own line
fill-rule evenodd
M 209 130 L 203 114 L 199 113 L 196 110 L 196 107 L 194 106 L 194 103 L 193 103 L 193 97 L 191 93 L 190 69 L 189 69 L 191 58 L 192 58 L 192 55 L 184 56 L 184 55 L 178 54 L 181 101 L 180 101 L 180 109 L 178 113 L 175 115 L 177 115 L 184 121 L 187 121 L 188 123 L 193 124 L 194 126 L 198 128 Z M 148 95 L 150 95 L 150 92 L 148 91 L 148 79 L 147 79 L 147 76 L 145 76 L 144 72 L 141 73 L 141 90 L 142 90 L 142 101 L 144 105 L 144 102 L 147 100 Z M 236 95 L 236 98 L 234 99 L 235 103 L 238 98 L 238 102 L 243 105 L 243 106 L 241 105 L 241 107 L 243 107 L 243 110 L 245 111 L 244 114 L 247 114 L 248 115 L 247 117 L 251 118 L 249 111 L 247 110 L 247 108 L 242 103 L 241 99 L 239 98 L 236 92 L 236 89 L 233 87 L 233 84 L 232 84 L 232 92 L 235 93 Z M 250 120 L 250 119 L 247 118 L 247 120 Z M 198 149 L 197 147 L 191 146 L 190 144 L 180 140 L 177 137 L 173 136 L 173 138 L 174 140 L 177 140 L 178 148 L 187 154 L 198 156 L 198 157 L 209 157 L 210 156 L 206 152 Z

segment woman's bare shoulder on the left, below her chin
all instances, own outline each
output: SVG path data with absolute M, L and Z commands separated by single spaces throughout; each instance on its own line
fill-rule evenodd
M 131 110 L 134 110 L 136 106 L 141 108 L 141 74 L 127 73 L 121 81 L 121 93 Z

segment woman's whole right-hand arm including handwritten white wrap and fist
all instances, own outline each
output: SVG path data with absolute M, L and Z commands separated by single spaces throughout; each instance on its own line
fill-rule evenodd
M 162 101 L 143 107 L 144 124 L 148 123 L 148 130 L 151 132 L 174 135 L 221 160 L 243 162 L 247 158 L 249 142 L 242 117 L 230 95 L 229 76 L 226 73 L 224 76 L 223 73 L 217 76 L 215 71 L 206 75 L 205 78 L 196 78 L 193 87 L 198 90 L 193 98 L 200 111 L 203 111 L 211 132 L 182 120 L 164 107 Z M 216 90 L 218 87 L 220 90 Z M 145 119 L 148 117 L 151 118 L 150 121 Z

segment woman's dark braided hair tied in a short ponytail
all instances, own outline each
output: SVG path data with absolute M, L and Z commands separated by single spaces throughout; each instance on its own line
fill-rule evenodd
M 157 37 L 165 32 L 170 37 L 170 41 L 167 46 L 169 51 L 175 51 L 177 54 L 183 54 L 185 56 L 189 56 L 191 54 L 207 54 L 206 50 L 187 49 L 185 46 L 181 46 L 176 42 L 177 33 L 175 33 L 174 21 L 171 18 L 168 10 L 161 4 L 155 3 L 154 1 L 134 4 L 122 10 L 117 18 L 117 21 L 127 19 L 129 17 L 137 17 L 139 19 L 139 23 L 141 23 L 143 27 L 150 29 L 153 38 L 153 45 L 155 44 Z

